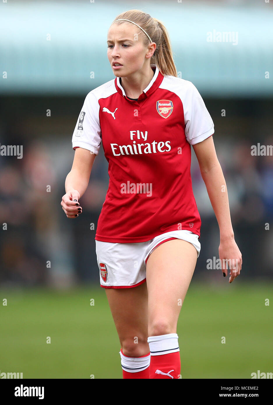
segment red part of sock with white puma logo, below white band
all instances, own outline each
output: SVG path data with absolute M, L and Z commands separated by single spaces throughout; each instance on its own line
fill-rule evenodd
M 151 356 L 149 378 L 178 379 L 180 370 L 181 362 L 179 352 L 161 354 L 160 356 Z

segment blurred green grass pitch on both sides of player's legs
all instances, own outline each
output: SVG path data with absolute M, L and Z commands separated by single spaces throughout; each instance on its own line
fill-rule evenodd
M 273 285 L 235 283 L 190 285 L 177 326 L 182 378 L 273 372 Z M 122 378 L 119 339 L 103 288 L 0 290 L 0 297 L 0 373 Z

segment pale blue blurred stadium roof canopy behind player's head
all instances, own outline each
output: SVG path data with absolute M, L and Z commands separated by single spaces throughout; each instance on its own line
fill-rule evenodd
M 179 77 L 202 94 L 272 96 L 273 8 L 257 3 L 139 1 L 137 8 L 164 23 Z M 0 94 L 87 94 L 113 79 L 107 31 L 127 7 L 104 1 L 0 4 L 0 66 L 6 72 Z

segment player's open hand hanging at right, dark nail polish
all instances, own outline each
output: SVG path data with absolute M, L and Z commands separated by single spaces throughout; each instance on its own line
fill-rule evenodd
M 229 283 L 232 283 L 232 281 L 239 276 L 243 263 L 242 254 L 237 246 L 237 243 L 235 242 L 234 237 L 228 240 L 220 241 L 219 258 L 222 263 L 222 273 L 224 276 L 227 275 L 229 266 Z

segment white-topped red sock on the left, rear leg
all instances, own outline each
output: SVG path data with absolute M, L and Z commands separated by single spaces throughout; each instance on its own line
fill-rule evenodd
M 141 357 L 125 356 L 120 349 L 123 379 L 147 378 L 149 379 L 150 353 Z M 139 370 L 139 371 L 137 371 Z

